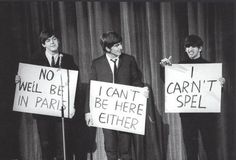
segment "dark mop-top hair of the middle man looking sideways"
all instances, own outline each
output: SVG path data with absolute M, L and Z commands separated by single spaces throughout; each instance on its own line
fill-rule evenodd
M 114 44 L 122 42 L 121 36 L 113 31 L 109 31 L 106 33 L 103 33 L 100 37 L 100 44 L 102 46 L 103 51 L 107 51 L 107 48 L 111 48 Z

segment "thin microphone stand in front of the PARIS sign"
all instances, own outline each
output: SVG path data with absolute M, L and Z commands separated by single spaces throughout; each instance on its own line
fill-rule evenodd
M 59 54 L 59 70 L 61 69 L 61 59 L 63 55 Z M 63 86 L 62 74 L 60 74 L 61 87 Z M 65 140 L 65 120 L 64 120 L 64 108 L 63 108 L 63 91 L 61 93 L 61 125 L 62 125 L 62 144 L 63 144 L 63 158 L 66 160 L 66 140 Z M 69 106 L 68 106 L 69 107 Z

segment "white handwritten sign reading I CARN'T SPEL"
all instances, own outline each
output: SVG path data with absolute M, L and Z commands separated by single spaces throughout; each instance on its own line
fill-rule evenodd
M 165 67 L 165 112 L 220 112 L 221 63 Z

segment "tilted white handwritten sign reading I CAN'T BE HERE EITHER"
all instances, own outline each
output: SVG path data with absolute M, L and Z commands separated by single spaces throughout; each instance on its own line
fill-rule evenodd
M 91 81 L 94 126 L 144 135 L 147 98 L 141 87 Z

